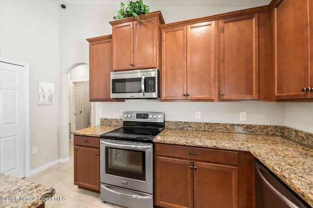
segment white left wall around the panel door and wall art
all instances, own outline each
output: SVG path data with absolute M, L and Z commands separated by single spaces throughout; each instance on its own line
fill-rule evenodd
M 30 170 L 59 159 L 59 6 L 54 1 L 0 1 L 0 56 L 29 63 Z M 55 104 L 37 104 L 37 83 L 55 84 Z

